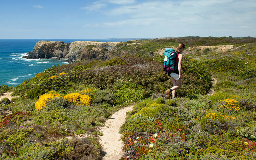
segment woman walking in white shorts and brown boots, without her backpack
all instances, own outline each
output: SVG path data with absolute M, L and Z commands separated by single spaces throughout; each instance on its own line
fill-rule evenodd
M 172 92 L 172 99 L 175 98 L 175 90 L 180 88 L 181 86 L 181 60 L 182 60 L 182 51 L 185 49 L 186 45 L 183 43 L 180 43 L 177 49 L 175 50 L 178 54 L 175 59 L 175 63 L 178 64 L 178 68 L 174 70 L 171 74 L 168 74 L 168 76 L 171 77 L 173 87 L 164 91 L 166 94 L 166 98 L 170 99 L 170 93 Z

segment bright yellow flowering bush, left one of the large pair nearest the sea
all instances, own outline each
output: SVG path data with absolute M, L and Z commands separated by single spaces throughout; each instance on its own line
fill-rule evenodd
M 61 97 L 61 95 L 55 91 L 50 91 L 48 93 L 45 93 L 45 94 L 39 96 L 38 101 L 35 103 L 35 109 L 41 110 L 41 109 L 47 107 L 46 103 L 55 97 Z

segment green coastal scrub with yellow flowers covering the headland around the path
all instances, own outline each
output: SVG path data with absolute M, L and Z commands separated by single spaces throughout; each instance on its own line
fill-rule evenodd
M 1 158 L 100 159 L 99 127 L 135 104 L 120 129 L 122 159 L 255 159 L 255 41 L 133 40 L 117 44 L 110 60 L 47 68 L 12 89 L 20 98 L 1 102 Z M 163 72 L 163 55 L 156 53 L 180 42 L 214 47 L 184 54 L 178 98 L 166 100 L 161 93 L 172 82 Z M 218 45 L 235 49 L 220 53 Z M 209 96 L 212 76 L 218 82 Z

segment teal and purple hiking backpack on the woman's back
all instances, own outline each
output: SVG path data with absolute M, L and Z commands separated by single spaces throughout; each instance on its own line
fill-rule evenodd
M 175 52 L 172 48 L 165 48 L 164 49 L 164 66 L 163 70 L 165 74 L 172 73 L 178 68 L 178 64 L 175 63 L 176 56 L 178 56 L 177 52 Z

